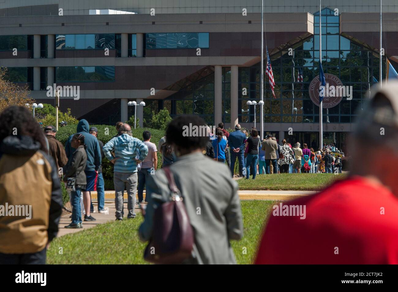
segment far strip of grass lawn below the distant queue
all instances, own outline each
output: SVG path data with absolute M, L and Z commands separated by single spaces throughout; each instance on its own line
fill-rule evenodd
M 252 180 L 252 176 L 250 180 L 238 180 L 238 185 L 239 190 L 316 191 L 345 176 L 331 173 L 258 174 L 255 180 Z

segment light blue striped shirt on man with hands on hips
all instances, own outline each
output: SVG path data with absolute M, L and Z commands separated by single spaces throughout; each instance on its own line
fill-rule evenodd
M 119 158 L 115 161 L 114 172 L 137 172 L 136 157 L 139 156 L 140 161 L 143 161 L 148 155 L 145 143 L 129 134 L 110 139 L 103 147 L 103 153 L 109 160 L 113 159 L 112 151 L 115 151 L 115 158 Z

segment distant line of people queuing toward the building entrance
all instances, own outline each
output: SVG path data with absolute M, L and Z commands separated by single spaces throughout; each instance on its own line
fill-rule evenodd
M 210 131 L 210 129 L 208 129 Z M 242 129 L 240 124 L 235 125 L 235 130 L 229 133 L 220 123 L 215 129 L 215 139 L 208 141 L 206 155 L 216 161 L 227 163 L 231 175 L 242 176 L 247 179 L 252 174 L 253 179 L 257 174 L 278 174 L 278 173 L 341 173 L 344 153 L 333 145 L 324 147 L 323 151 L 314 152 L 304 143 L 294 147 L 282 140 L 281 145 L 275 137 L 267 134 L 263 141 L 259 139 L 258 130 L 250 129 L 250 135 Z M 238 160 L 239 174 L 235 174 L 235 163 Z

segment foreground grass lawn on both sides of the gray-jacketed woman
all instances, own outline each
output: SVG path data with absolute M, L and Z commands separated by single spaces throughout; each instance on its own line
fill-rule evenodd
M 252 263 L 263 220 L 274 204 L 275 201 L 241 201 L 244 237 L 231 242 L 239 264 Z M 142 220 L 138 215 L 134 220 L 111 221 L 55 238 L 47 251 L 47 264 L 145 264 L 146 244 L 137 233 Z

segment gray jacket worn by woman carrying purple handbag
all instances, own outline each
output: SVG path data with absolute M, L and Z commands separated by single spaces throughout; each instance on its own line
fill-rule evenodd
M 181 191 L 195 235 L 194 258 L 187 263 L 236 263 L 230 240 L 242 238 L 243 222 L 238 184 L 230 178 L 229 168 L 200 152 L 179 157 L 170 170 Z M 152 236 L 154 224 L 159 224 L 153 221 L 154 210 L 171 199 L 163 170 L 148 178 L 146 194 L 146 216 L 139 228 L 144 241 Z

